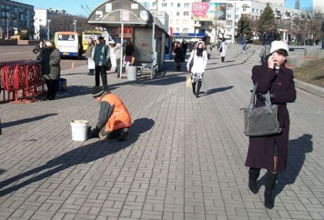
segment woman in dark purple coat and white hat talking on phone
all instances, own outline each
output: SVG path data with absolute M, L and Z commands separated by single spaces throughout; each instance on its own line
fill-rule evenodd
M 289 139 L 289 113 L 287 102 L 296 100 L 294 74 L 291 69 L 285 67 L 289 48 L 282 41 L 274 41 L 271 44 L 267 62 L 260 66 L 253 66 L 253 84 L 258 83 L 256 107 L 264 105 L 265 93 L 271 93 L 271 102 L 278 105 L 278 122 L 282 128 L 280 134 L 249 138 L 249 150 L 245 165 L 249 169 L 249 189 L 256 194 L 258 192 L 257 179 L 260 169 L 267 169 L 264 206 L 273 208 L 274 200 L 272 192 L 276 187 L 278 172 L 286 168 L 288 139 Z

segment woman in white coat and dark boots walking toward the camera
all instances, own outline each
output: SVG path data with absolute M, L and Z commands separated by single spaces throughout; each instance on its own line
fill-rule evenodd
M 201 88 L 201 82 L 204 76 L 204 72 L 207 66 L 207 53 L 204 51 L 204 42 L 198 42 L 195 50 L 190 54 L 190 58 L 187 63 L 187 70 L 191 72 L 191 82 L 192 82 L 192 93 L 199 97 L 199 91 Z M 193 61 L 192 66 L 190 63 Z M 191 69 L 190 69 L 191 68 Z M 196 91 L 197 84 L 197 91 Z

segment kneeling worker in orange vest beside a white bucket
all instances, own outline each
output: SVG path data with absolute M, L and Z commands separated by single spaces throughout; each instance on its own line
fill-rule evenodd
M 132 125 L 132 119 L 125 104 L 117 95 L 100 87 L 95 87 L 92 95 L 100 102 L 100 111 L 96 128 L 91 131 L 90 138 L 125 140 L 129 134 L 129 127 Z

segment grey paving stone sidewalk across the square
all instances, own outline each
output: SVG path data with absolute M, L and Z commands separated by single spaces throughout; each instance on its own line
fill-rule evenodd
M 252 194 L 244 166 L 251 66 L 214 52 L 199 98 L 165 66 L 154 80 L 109 73 L 133 120 L 122 143 L 71 140 L 71 120 L 98 118 L 86 66 L 62 71 L 57 100 L 0 104 L 0 219 L 324 219 L 324 98 L 298 90 L 289 104 L 287 170 L 267 210 L 264 177 Z

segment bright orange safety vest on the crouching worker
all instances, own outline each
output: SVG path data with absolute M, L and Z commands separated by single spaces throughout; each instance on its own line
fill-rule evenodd
M 105 125 L 105 131 L 114 131 L 123 127 L 130 127 L 132 125 L 132 119 L 129 115 L 125 104 L 113 93 L 107 93 L 101 98 L 101 102 L 108 102 L 114 107 L 111 116 Z

